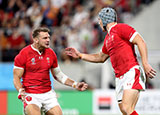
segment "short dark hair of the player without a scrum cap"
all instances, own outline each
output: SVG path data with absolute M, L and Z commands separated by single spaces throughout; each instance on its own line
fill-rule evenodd
M 38 27 L 35 30 L 33 30 L 32 37 L 36 38 L 40 32 L 48 32 L 49 33 L 50 30 L 46 27 Z

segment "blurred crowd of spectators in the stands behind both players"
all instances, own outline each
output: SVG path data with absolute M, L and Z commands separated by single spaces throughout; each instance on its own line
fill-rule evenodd
M 153 0 L 0 0 L 0 61 L 13 61 L 18 52 L 32 43 L 32 30 L 51 30 L 51 48 L 61 61 L 73 61 L 64 48 L 89 53 L 103 41 L 97 24 L 98 12 L 111 6 L 118 22 L 132 19 L 143 5 Z

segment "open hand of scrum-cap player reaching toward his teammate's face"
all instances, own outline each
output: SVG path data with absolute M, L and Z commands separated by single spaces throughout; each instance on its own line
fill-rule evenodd
M 80 58 L 80 52 L 78 50 L 76 50 L 75 48 L 66 48 L 65 49 L 65 53 L 69 56 L 72 56 L 73 58 Z

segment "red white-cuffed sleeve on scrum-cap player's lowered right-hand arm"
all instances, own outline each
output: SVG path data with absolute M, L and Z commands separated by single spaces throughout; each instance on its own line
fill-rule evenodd
M 131 26 L 127 25 L 127 24 L 123 24 L 121 26 L 119 26 L 118 28 L 118 35 L 125 40 L 128 40 L 130 42 L 133 41 L 133 39 L 135 38 L 135 36 L 138 34 L 138 32 L 136 32 L 136 30 L 134 28 L 132 28 Z

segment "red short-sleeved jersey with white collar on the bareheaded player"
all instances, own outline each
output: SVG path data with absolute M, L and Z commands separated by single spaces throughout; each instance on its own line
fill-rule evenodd
M 57 56 L 51 48 L 41 54 L 32 45 L 23 48 L 14 60 L 15 68 L 24 69 L 22 84 L 27 93 L 50 91 L 49 70 L 57 66 Z

